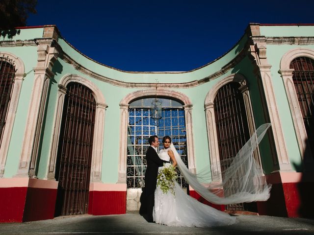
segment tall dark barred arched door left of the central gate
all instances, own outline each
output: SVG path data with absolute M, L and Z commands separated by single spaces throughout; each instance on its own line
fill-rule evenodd
M 55 216 L 88 210 L 96 102 L 92 91 L 70 82 L 64 99 L 55 178 Z

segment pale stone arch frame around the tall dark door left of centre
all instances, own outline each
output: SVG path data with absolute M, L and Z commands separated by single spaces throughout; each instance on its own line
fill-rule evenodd
M 91 183 L 101 182 L 104 129 L 105 129 L 105 110 L 108 107 L 105 103 L 105 97 L 102 92 L 91 81 L 75 74 L 69 74 L 63 77 L 58 84 L 57 103 L 55 107 L 55 118 L 52 133 L 52 145 L 50 151 L 49 167 L 46 179 L 55 180 L 56 155 L 58 150 L 61 119 L 64 105 L 64 98 L 67 92 L 66 86 L 70 82 L 77 82 L 88 87 L 96 100 L 96 114 L 94 126 L 94 144 L 92 150 Z

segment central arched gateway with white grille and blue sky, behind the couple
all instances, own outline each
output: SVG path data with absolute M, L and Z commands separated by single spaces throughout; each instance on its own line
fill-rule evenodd
M 159 150 L 163 148 L 163 136 L 170 136 L 173 144 L 187 166 L 186 127 L 183 104 L 174 99 L 158 98 L 161 101 L 161 118 L 151 117 L 154 98 L 142 98 L 129 104 L 129 122 L 127 131 L 127 210 L 139 210 L 139 198 L 145 187 L 145 154 L 149 147 L 148 138 L 159 137 Z M 182 188 L 188 185 L 179 172 L 178 183 Z

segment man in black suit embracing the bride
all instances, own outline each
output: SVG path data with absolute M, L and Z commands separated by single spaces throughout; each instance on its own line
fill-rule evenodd
M 147 168 L 145 171 L 145 199 L 147 203 L 147 220 L 153 222 L 154 194 L 157 184 L 158 167 L 167 161 L 161 160 L 157 154 L 159 140 L 157 136 L 151 136 L 148 139 L 150 146 L 146 152 Z

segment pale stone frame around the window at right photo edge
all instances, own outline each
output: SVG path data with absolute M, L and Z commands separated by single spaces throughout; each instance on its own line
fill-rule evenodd
M 295 48 L 289 50 L 280 61 L 281 77 L 284 82 L 288 103 L 291 111 L 291 117 L 294 125 L 295 135 L 298 141 L 298 146 L 303 161 L 303 165 L 306 169 L 313 170 L 314 162 L 311 149 L 306 147 L 308 142 L 308 135 L 306 133 L 303 116 L 298 102 L 298 97 L 295 92 L 294 83 L 292 79 L 293 69 L 290 69 L 290 63 L 297 57 L 305 56 L 314 59 L 314 50 L 309 48 Z

